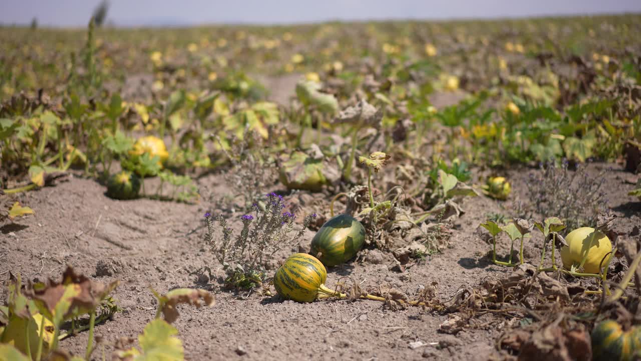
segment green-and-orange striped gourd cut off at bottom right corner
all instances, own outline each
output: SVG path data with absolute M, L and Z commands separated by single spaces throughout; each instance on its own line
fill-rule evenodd
M 623 331 L 616 321 L 603 321 L 592 330 L 592 360 L 628 361 L 641 356 L 641 326 Z M 637 355 L 635 355 L 635 352 Z

